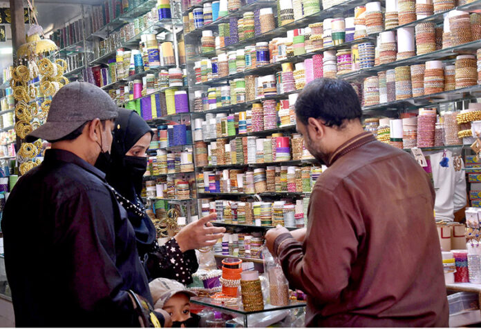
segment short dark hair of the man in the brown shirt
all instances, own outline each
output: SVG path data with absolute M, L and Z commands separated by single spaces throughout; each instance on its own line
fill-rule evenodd
M 319 78 L 308 83 L 296 101 L 296 116 L 308 124 L 310 117 L 326 121 L 325 126 L 343 127 L 352 119 L 361 119 L 359 97 L 347 81 Z

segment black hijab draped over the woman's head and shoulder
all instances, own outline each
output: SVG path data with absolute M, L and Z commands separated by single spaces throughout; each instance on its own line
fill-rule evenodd
M 142 208 L 140 190 L 135 188 L 135 186 L 142 186 L 142 181 L 133 181 L 129 167 L 126 166 L 127 156 L 125 154 L 147 132 L 152 134 L 152 129 L 137 112 L 120 108 L 113 130 L 111 165 L 106 170 L 106 180 L 109 184 L 122 197 Z M 129 221 L 135 230 L 139 252 L 142 254 L 155 242 L 155 227 L 145 212 L 142 216 L 133 211 L 127 210 L 127 212 Z

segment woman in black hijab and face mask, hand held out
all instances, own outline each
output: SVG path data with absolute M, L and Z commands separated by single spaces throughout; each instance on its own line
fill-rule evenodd
M 166 277 L 189 284 L 198 268 L 194 249 L 214 245 L 225 228 L 212 226 L 210 221 L 215 216 L 209 215 L 189 223 L 164 246 L 158 246 L 155 227 L 140 199 L 152 135 L 152 129 L 136 112 L 119 109 L 113 130 L 111 163 L 108 168 L 100 169 L 106 172 L 106 180 L 117 191 L 117 201 L 127 210 L 149 281 Z

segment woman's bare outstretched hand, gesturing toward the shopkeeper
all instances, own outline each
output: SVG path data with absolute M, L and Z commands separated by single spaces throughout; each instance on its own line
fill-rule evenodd
M 191 249 L 214 246 L 218 239 L 222 239 L 225 228 L 218 228 L 210 223 L 216 217 L 217 215 L 214 212 L 182 228 L 174 237 L 180 251 L 186 252 Z

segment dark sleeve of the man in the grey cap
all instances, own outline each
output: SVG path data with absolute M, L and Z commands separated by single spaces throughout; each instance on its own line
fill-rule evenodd
M 78 301 L 86 321 L 97 326 L 138 326 L 138 319 L 124 279 L 116 266 L 115 223 L 111 197 L 107 192 L 88 190 L 68 199 L 57 210 L 64 218 L 57 246 L 64 250 L 66 294 Z M 82 320 L 80 320 L 82 321 Z M 89 323 L 89 322 L 87 322 Z

